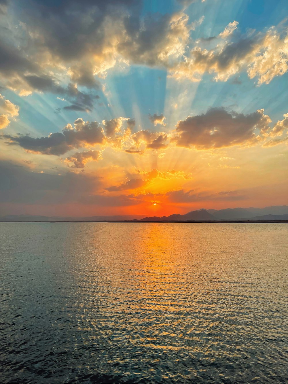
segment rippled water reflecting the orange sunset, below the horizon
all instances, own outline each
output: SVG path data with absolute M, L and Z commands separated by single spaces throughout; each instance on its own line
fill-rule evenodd
M 0 223 L 1 382 L 285 382 L 287 224 Z

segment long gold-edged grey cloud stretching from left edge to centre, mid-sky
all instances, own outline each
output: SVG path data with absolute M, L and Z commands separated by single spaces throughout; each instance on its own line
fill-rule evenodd
M 7 122 L 3 120 L 3 125 L 5 124 Z M 10 145 L 19 145 L 27 152 L 55 156 L 63 155 L 75 148 L 91 147 L 96 144 L 103 148 L 109 146 L 116 151 L 138 154 L 144 153 L 144 149 L 138 148 L 139 145 L 151 149 L 167 147 L 166 134 L 149 131 L 131 134 L 130 127 L 134 126 L 135 120 L 131 118 L 103 120 L 102 125 L 97 121 L 85 122 L 82 118 L 78 118 L 74 121 L 74 127 L 67 124 L 62 132 L 50 133 L 48 136 L 34 138 L 29 134 L 18 136 L 5 134 L 0 138 L 5 139 Z M 132 144 L 136 144 L 137 148 Z

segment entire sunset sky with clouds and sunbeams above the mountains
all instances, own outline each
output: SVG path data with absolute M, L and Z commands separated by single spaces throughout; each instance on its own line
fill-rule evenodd
M 0 215 L 288 204 L 286 0 L 0 0 Z

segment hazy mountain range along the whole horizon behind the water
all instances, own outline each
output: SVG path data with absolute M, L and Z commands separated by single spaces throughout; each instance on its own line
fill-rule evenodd
M 288 220 L 288 205 L 273 205 L 265 208 L 227 208 L 199 209 L 187 214 L 170 216 L 143 217 L 143 215 L 111 215 L 91 217 L 58 217 L 33 215 L 6 215 L 0 217 L 0 222 L 103 222 L 103 221 L 132 221 L 132 222 L 175 222 L 175 221 L 229 221 L 229 220 Z

